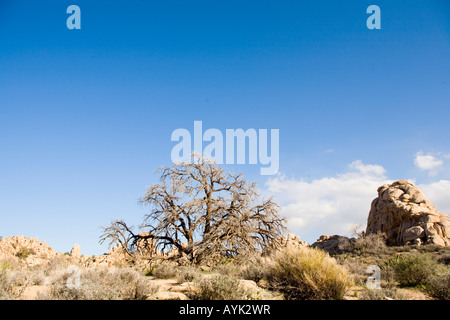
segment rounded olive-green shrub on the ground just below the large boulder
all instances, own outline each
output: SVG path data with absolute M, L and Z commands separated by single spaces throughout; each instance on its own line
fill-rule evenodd
M 442 271 L 439 262 L 426 253 L 403 254 L 389 260 L 387 264 L 394 270 L 401 286 L 426 285 L 430 276 Z

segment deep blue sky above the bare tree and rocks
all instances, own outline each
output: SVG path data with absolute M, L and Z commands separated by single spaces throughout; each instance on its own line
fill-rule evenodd
M 371 187 L 413 179 L 450 208 L 448 1 L 93 2 L 0 0 L 0 235 L 107 251 L 100 227 L 140 222 L 172 131 L 194 120 L 280 130 L 280 176 L 229 169 L 293 220 L 303 198 L 276 182 L 313 190 L 352 172 Z M 66 27 L 71 4 L 81 30 Z M 381 30 L 366 27 L 372 4 Z M 356 217 L 347 207 L 336 221 Z M 290 229 L 313 242 L 323 232 L 305 223 Z

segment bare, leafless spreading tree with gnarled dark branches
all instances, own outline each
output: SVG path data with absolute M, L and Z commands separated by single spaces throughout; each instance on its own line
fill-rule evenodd
M 101 242 L 119 243 L 132 255 L 146 241 L 154 246 L 149 259 L 172 251 L 199 264 L 262 250 L 284 230 L 286 221 L 272 199 L 260 200 L 255 183 L 224 172 L 210 159 L 194 154 L 192 162 L 157 172 L 160 183 L 142 198 L 150 206 L 141 225 L 147 232 L 135 234 L 124 221 L 114 221 L 104 228 Z

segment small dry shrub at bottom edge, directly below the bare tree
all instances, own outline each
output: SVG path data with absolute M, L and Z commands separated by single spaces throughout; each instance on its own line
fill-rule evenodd
M 200 281 L 196 299 L 198 300 L 249 300 L 252 293 L 246 290 L 239 279 L 228 275 L 218 275 Z

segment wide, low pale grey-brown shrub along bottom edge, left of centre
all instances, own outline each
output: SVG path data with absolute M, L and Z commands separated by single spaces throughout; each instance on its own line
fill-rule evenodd
M 71 273 L 64 272 L 52 282 L 46 298 L 58 300 L 143 300 L 155 294 L 158 287 L 149 279 L 128 268 L 86 269 L 81 271 L 80 287 L 69 288 Z

